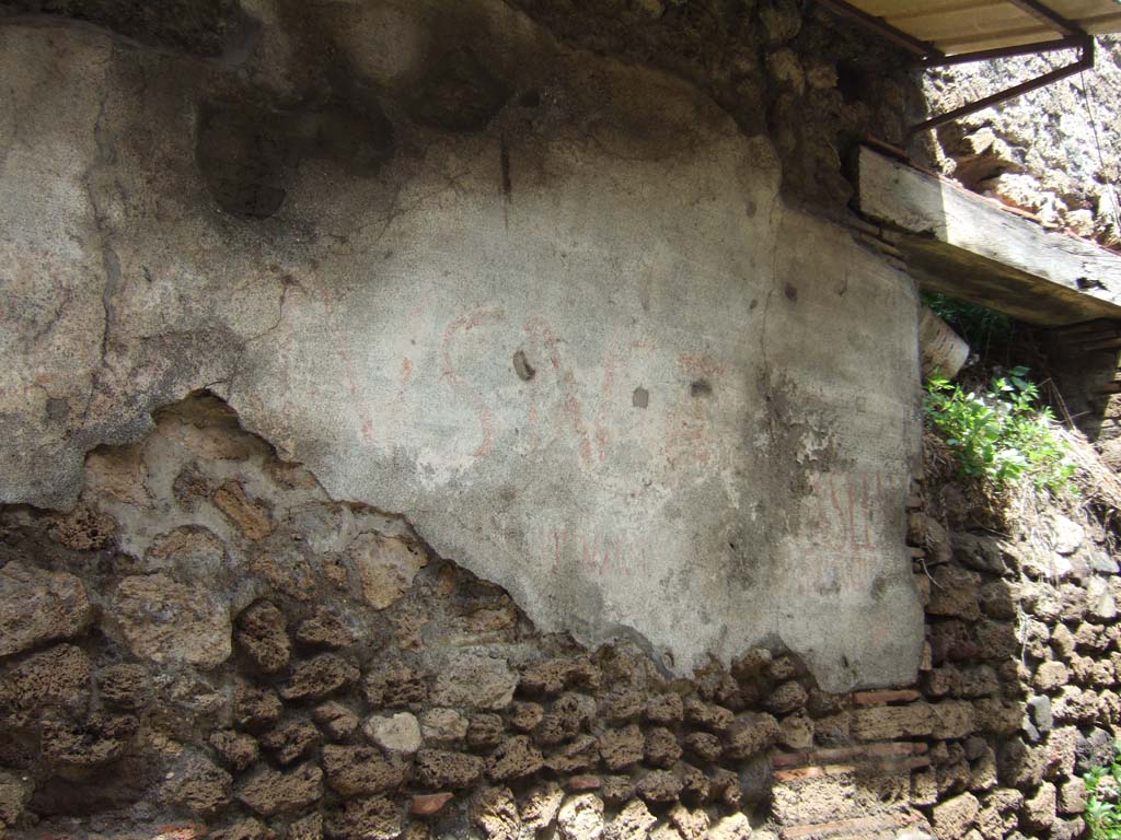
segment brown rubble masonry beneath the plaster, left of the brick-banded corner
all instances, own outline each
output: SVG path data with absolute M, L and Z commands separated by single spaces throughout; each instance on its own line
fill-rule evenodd
M 17 836 L 741 838 L 768 748 L 812 737 L 795 659 L 691 682 L 540 634 L 212 396 L 92 452 L 72 513 L 2 526 Z

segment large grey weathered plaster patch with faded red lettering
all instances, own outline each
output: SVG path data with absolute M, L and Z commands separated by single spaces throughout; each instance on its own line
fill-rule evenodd
M 504 7 L 484 28 L 512 97 L 485 131 L 417 127 L 397 103 L 434 36 L 373 8 L 421 45 L 352 39 L 392 159 L 287 161 L 253 221 L 195 150 L 200 106 L 244 78 L 0 28 L 0 500 L 72 504 L 87 449 L 207 388 L 543 629 L 636 636 L 683 672 L 769 641 L 830 689 L 908 681 L 910 282 L 784 207 L 770 146 L 695 91 Z M 331 9 L 340 31 L 373 13 Z M 324 111 L 290 104 L 258 11 L 242 76 L 298 133 Z

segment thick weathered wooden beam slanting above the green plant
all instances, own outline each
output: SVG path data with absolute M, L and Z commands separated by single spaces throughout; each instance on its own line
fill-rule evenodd
M 1048 233 L 867 147 L 859 192 L 861 211 L 899 232 L 908 269 L 932 289 L 1040 326 L 1121 319 L 1121 255 L 1112 251 Z

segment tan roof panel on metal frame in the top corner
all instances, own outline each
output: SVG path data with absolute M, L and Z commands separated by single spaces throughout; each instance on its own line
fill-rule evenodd
M 849 0 L 946 55 L 1058 40 L 1062 34 L 1010 0 Z M 1048 9 L 1094 35 L 1121 31 L 1119 0 L 1046 0 Z

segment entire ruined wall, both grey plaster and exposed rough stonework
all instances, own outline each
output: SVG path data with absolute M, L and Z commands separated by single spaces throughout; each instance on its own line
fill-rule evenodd
M 1083 829 L 1111 532 L 826 221 L 895 56 L 571 6 L 0 3 L 0 834 Z

